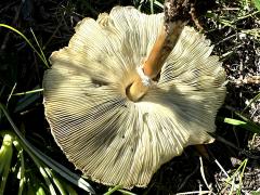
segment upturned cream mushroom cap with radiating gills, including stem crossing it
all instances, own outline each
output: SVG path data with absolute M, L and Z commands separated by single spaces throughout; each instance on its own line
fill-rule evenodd
M 52 53 L 46 116 L 83 176 L 144 187 L 185 146 L 213 141 L 225 73 L 210 41 L 180 18 L 165 26 L 162 13 L 116 6 L 78 23 Z

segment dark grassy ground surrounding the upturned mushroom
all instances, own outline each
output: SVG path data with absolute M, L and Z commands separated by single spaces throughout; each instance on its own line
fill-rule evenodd
M 0 194 L 258 193 L 260 185 L 250 176 L 259 171 L 260 90 L 257 81 L 246 80 L 260 74 L 259 0 L 200 2 L 196 10 L 227 75 L 227 96 L 217 120 L 217 138 L 222 141 L 217 139 L 207 147 L 212 159 L 203 160 L 188 147 L 162 166 L 147 188 L 131 192 L 87 181 L 74 172 L 44 121 L 41 81 L 49 68 L 48 56 L 67 44 L 73 27 L 83 17 L 95 18 L 117 4 L 157 13 L 162 1 L 26 3 L 0 4 L 4 15 L 0 18 Z M 210 11 L 205 12 L 204 6 Z M 61 159 L 63 165 L 56 162 Z

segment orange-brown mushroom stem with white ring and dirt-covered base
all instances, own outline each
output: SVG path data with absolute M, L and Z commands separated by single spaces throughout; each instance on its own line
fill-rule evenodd
M 165 25 L 158 36 L 142 72 L 150 80 L 155 79 L 170 52 L 173 50 L 188 15 L 188 0 L 166 0 L 165 1 Z M 151 84 L 143 83 L 139 76 L 128 89 L 129 99 L 136 102 L 150 89 Z

